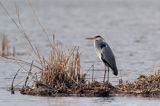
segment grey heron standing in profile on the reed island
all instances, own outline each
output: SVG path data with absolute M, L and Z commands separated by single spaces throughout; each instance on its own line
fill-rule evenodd
M 96 49 L 97 56 L 99 57 L 99 59 L 105 65 L 105 72 L 104 72 L 103 82 L 105 82 L 106 67 L 108 67 L 108 79 L 107 79 L 107 82 L 109 83 L 109 68 L 112 69 L 113 74 L 115 76 L 118 75 L 118 69 L 117 69 L 117 66 L 116 66 L 115 57 L 114 57 L 114 54 L 113 54 L 111 48 L 109 47 L 109 45 L 105 42 L 105 40 L 100 35 L 97 35 L 97 36 L 94 36 L 94 37 L 88 37 L 86 39 L 94 40 L 94 47 Z

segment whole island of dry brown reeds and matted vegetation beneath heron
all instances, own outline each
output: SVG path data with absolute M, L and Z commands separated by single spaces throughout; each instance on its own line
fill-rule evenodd
M 26 80 L 19 89 L 21 94 L 52 97 L 160 96 L 159 71 L 150 76 L 140 75 L 135 81 L 123 82 L 121 79 L 118 85 L 112 85 L 108 82 L 86 79 L 87 74 L 84 70 L 82 71 L 80 65 L 79 47 L 62 49 L 53 39 L 47 59 L 40 56 L 38 52 L 36 53 L 39 63 L 41 63 L 41 68 L 40 66 L 35 66 L 34 62 L 30 63 Z M 33 73 L 32 67 L 39 67 L 39 73 Z M 19 70 L 16 75 L 18 72 Z M 30 73 L 32 73 L 32 76 L 30 76 Z M 31 82 L 33 83 L 27 85 L 30 77 L 32 77 Z M 14 93 L 14 79 L 11 86 L 12 93 Z

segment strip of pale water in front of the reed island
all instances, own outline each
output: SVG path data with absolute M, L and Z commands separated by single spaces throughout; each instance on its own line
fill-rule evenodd
M 159 106 L 159 98 L 136 97 L 38 97 L 0 91 L 0 106 Z

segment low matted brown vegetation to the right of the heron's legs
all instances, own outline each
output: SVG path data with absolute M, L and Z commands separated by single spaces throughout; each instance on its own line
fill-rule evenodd
M 150 76 L 140 75 L 134 82 L 117 86 L 119 92 L 142 96 L 160 96 L 160 71 Z

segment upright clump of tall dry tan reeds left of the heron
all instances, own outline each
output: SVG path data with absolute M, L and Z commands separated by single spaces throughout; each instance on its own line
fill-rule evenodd
M 62 50 L 57 44 L 52 44 L 48 61 L 43 61 L 40 82 L 54 89 L 73 88 L 84 83 L 85 77 L 80 69 L 79 48 Z

